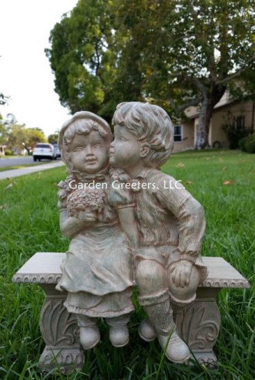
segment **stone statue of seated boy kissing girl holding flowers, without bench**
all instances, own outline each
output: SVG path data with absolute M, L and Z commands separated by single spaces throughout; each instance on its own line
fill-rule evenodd
M 68 292 L 66 308 L 76 314 L 88 349 L 100 340 L 100 317 L 110 325 L 113 345 L 128 343 L 137 285 L 148 315 L 140 336 L 158 337 L 169 360 L 186 363 L 189 348 L 176 332 L 173 311 L 194 301 L 207 276 L 200 257 L 203 209 L 180 181 L 159 170 L 173 148 L 162 108 L 119 104 L 113 126 L 111 142 L 108 124 L 82 111 L 60 132 L 68 168 L 59 183 L 60 228 L 72 240 L 56 288 Z

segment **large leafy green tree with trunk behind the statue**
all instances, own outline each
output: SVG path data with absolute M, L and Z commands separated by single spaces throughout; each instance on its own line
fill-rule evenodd
M 199 107 L 197 148 L 208 145 L 227 88 L 254 91 L 254 0 L 80 0 L 47 50 L 71 112 L 110 118 L 117 102 L 149 100 L 180 118 Z M 242 86 L 240 86 L 242 83 Z

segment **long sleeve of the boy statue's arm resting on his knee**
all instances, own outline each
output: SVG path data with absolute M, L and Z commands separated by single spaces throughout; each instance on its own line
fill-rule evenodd
M 160 178 L 155 196 L 160 205 L 178 219 L 179 242 L 176 252 L 180 254 L 180 259 L 195 263 L 205 233 L 205 214 L 202 206 L 180 182 L 176 182 L 169 175 Z

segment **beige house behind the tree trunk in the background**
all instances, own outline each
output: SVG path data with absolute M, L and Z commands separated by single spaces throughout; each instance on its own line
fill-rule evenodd
M 196 128 L 198 127 L 198 108 L 189 107 L 185 111 L 188 120 L 174 125 L 173 152 L 194 149 L 196 145 Z M 252 100 L 233 100 L 225 93 L 214 107 L 209 129 L 209 144 L 213 147 L 228 148 L 229 141 L 222 129 L 223 124 L 253 129 L 255 124 L 255 102 Z

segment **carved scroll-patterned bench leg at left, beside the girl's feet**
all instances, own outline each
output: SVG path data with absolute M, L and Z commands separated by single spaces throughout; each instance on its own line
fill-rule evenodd
M 42 285 L 46 294 L 41 308 L 40 330 L 46 343 L 39 359 L 44 371 L 59 368 L 62 373 L 82 369 L 84 353 L 79 343 L 77 319 L 64 306 L 66 294 L 58 292 L 54 285 Z

